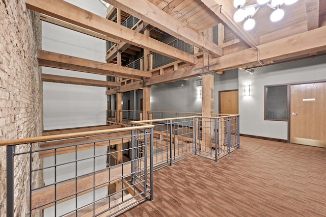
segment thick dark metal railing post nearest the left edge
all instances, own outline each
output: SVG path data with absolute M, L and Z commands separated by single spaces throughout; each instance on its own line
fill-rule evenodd
M 7 146 L 7 217 L 14 216 L 14 156 L 15 145 Z

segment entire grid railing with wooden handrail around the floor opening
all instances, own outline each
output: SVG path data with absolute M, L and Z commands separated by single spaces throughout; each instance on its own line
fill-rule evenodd
M 240 147 L 239 115 L 131 124 L 0 142 L 7 146 L 7 216 L 21 214 L 15 213 L 16 204 L 23 203 L 17 179 L 29 180 L 30 216 L 42 212 L 45 216 L 111 216 L 153 199 L 154 169 L 191 154 L 218 161 Z M 26 161 L 26 177 L 21 177 L 18 160 Z M 35 182 L 38 178 L 44 184 Z

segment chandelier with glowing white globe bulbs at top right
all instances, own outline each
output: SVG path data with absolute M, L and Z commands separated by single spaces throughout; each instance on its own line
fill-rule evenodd
M 243 23 L 244 30 L 251 30 L 254 28 L 256 21 L 252 18 L 259 9 L 268 7 L 274 9 L 270 14 L 270 20 L 273 22 L 279 21 L 284 16 L 284 11 L 280 9 L 283 4 L 291 5 L 297 0 L 257 0 L 257 4 L 244 6 L 246 0 L 234 0 L 233 5 L 238 10 L 234 13 L 233 19 L 235 22 L 241 22 L 244 18 L 247 20 Z

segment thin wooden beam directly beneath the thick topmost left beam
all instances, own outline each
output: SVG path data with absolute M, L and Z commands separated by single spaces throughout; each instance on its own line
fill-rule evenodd
M 45 14 L 40 14 L 40 20 L 62 26 L 64 28 L 67 28 L 67 29 L 70 29 L 70 30 L 74 30 L 74 31 L 77 31 L 79 33 L 84 33 L 84 34 L 89 35 L 89 36 L 94 36 L 96 38 L 103 39 L 105 41 L 111 41 L 111 42 L 116 43 L 116 44 L 119 44 L 121 42 L 120 40 L 108 37 L 108 36 L 100 34 L 100 33 L 96 33 L 94 31 L 79 27 L 77 25 L 74 25 L 74 24 L 71 24 L 71 23 L 68 23 L 68 22 L 65 22 L 65 21 L 50 17 L 50 16 L 47 16 Z

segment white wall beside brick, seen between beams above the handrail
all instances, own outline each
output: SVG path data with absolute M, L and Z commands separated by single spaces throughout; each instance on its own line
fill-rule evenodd
M 99 1 L 67 1 L 105 17 Z M 105 41 L 42 22 L 42 49 L 79 58 L 105 62 Z M 105 76 L 42 67 L 46 74 L 105 80 Z M 105 124 L 105 88 L 43 83 L 44 130 Z

